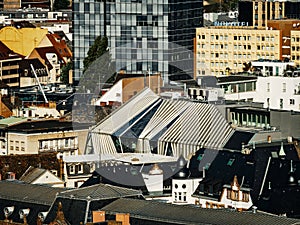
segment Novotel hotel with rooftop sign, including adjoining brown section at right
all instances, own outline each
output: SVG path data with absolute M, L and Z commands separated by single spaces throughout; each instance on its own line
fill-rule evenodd
M 215 25 L 196 30 L 195 77 L 242 72 L 245 63 L 258 59 L 300 65 L 300 20 L 270 20 L 266 28 L 241 26 L 246 22 Z

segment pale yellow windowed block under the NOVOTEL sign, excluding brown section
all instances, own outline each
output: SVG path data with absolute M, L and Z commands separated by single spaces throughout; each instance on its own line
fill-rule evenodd
M 243 71 L 243 63 L 281 58 L 280 30 L 217 26 L 196 29 L 195 77 Z

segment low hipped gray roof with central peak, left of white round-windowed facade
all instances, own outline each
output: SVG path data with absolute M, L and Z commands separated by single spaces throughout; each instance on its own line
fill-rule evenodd
M 58 197 L 72 198 L 78 200 L 104 200 L 112 198 L 125 198 L 141 196 L 142 192 L 129 188 L 116 187 L 108 184 L 96 184 L 74 190 L 67 190 L 59 193 Z

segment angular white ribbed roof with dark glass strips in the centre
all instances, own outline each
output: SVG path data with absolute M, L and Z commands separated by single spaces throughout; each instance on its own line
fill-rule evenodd
M 211 104 L 167 100 L 144 89 L 89 133 L 86 154 L 125 152 L 183 155 L 221 149 L 234 133 Z

